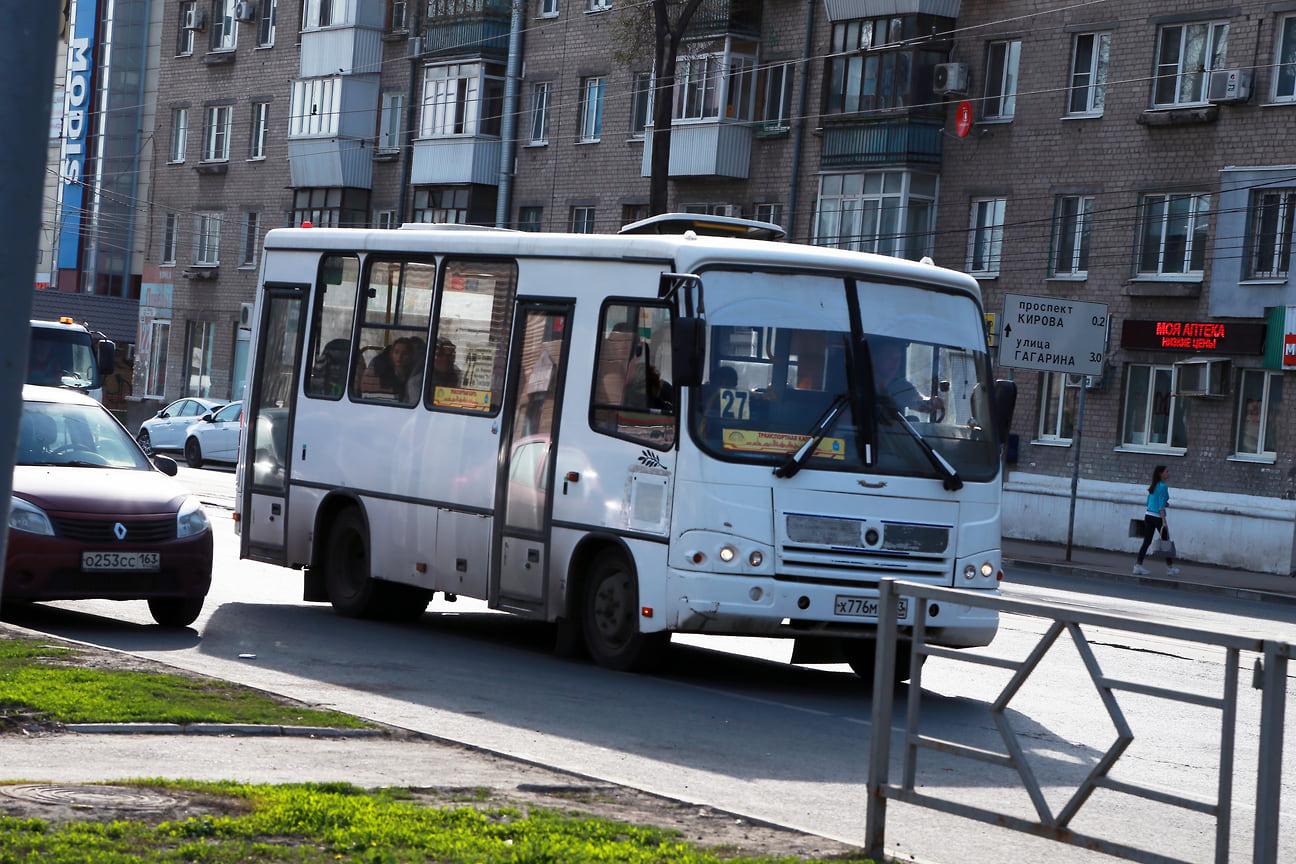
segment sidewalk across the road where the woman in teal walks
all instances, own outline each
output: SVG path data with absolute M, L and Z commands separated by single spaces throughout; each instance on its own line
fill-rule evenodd
M 1135 576 L 1133 574 L 1134 556 L 1129 552 L 1072 547 L 1068 561 L 1065 544 L 1003 539 L 1004 579 L 1010 582 L 1013 578 L 1013 570 L 1030 567 L 1074 579 L 1121 582 L 1151 588 L 1170 588 L 1296 605 L 1296 576 L 1231 570 L 1192 561 L 1175 561 L 1174 565 L 1179 573 L 1168 576 L 1163 558 L 1153 560 L 1152 556 L 1148 556 L 1143 565 L 1152 571 L 1151 575 Z

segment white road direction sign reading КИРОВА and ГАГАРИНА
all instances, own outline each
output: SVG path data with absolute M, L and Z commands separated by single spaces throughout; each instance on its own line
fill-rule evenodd
M 1107 303 L 1004 294 L 1002 335 L 1001 365 L 1100 376 Z

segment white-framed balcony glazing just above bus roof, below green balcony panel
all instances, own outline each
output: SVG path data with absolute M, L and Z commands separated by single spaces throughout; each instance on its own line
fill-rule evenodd
M 815 244 L 918 260 L 931 254 L 936 177 L 907 171 L 824 175 L 816 209 Z

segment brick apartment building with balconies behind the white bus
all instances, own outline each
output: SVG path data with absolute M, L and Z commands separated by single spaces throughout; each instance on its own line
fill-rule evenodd
M 1133 548 L 1169 464 L 1188 557 L 1293 569 L 1296 3 L 706 0 L 673 95 L 617 0 L 157 3 L 137 391 L 241 394 L 276 224 L 648 215 L 670 98 L 673 210 L 967 269 L 991 339 L 1006 294 L 1107 306 L 1102 374 L 995 355 L 1007 534 Z

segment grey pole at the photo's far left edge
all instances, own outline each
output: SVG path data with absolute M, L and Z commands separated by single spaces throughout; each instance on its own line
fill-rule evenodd
M 40 196 L 49 146 L 49 91 L 54 80 L 58 5 L 10 4 L 0 27 L 0 512 L 9 525 L 13 462 L 18 452 L 22 382 L 27 377 L 31 291 L 36 272 Z M 8 529 L 0 531 L 0 591 Z

